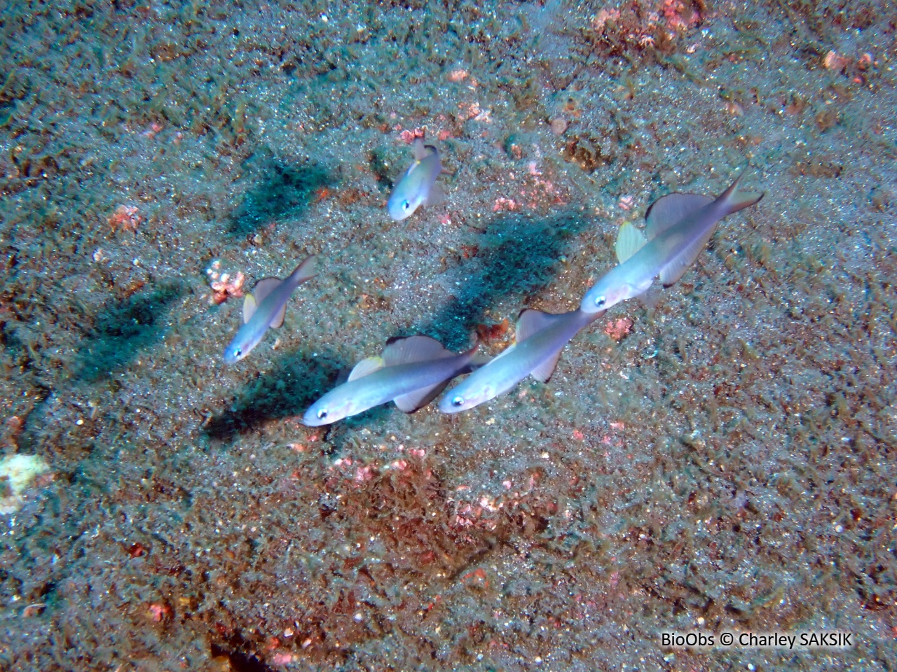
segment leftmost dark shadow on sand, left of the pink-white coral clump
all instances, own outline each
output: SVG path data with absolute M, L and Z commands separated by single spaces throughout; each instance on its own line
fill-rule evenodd
M 161 282 L 100 309 L 74 359 L 73 373 L 87 383 L 126 366 L 161 340 L 172 304 L 184 295 L 177 283 Z

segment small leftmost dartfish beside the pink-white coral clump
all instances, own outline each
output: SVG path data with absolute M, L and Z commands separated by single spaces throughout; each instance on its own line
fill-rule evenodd
M 277 328 L 283 324 L 287 299 L 290 298 L 293 289 L 316 275 L 316 259 L 314 254 L 309 256 L 296 266 L 296 270 L 292 271 L 286 280 L 279 278 L 258 280 L 252 289 L 253 293 L 247 294 L 243 301 L 243 326 L 239 328 L 231 344 L 224 349 L 225 364 L 239 362 L 258 345 L 269 327 Z

